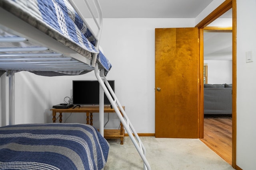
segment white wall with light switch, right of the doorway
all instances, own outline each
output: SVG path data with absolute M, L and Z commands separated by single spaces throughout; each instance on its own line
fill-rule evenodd
M 256 1 L 237 3 L 237 160 L 243 170 L 256 167 Z M 246 51 L 254 62 L 246 63 Z

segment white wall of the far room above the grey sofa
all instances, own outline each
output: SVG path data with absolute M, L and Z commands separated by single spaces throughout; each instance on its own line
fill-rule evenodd
M 232 84 L 231 60 L 205 60 L 208 64 L 208 84 Z

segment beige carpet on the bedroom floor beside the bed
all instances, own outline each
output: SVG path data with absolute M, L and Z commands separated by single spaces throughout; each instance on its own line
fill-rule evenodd
M 199 139 L 140 137 L 152 170 L 234 170 Z M 104 170 L 143 170 L 143 162 L 129 137 L 124 145 L 110 139 Z

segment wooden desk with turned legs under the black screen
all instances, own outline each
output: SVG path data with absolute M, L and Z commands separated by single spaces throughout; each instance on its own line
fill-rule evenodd
M 124 109 L 124 106 L 122 106 Z M 72 109 L 72 107 L 68 109 L 50 109 L 52 110 L 52 122 L 56 122 L 56 113 L 60 113 L 60 123 L 62 123 L 62 113 L 86 113 L 86 124 L 93 125 L 93 115 L 92 113 L 99 113 L 99 106 L 82 106 L 76 107 Z M 114 109 L 111 109 L 110 106 L 104 106 L 104 113 L 116 113 Z M 122 114 L 122 113 L 121 113 Z M 89 118 L 90 116 L 90 118 Z M 120 122 L 120 130 L 119 129 L 104 129 L 104 138 L 106 139 L 120 139 L 120 144 L 124 144 L 124 126 Z

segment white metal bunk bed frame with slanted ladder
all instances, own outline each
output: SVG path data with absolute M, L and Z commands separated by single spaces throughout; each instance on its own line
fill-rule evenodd
M 94 37 L 96 37 L 96 49 L 99 49 L 100 36 L 102 31 L 102 11 L 100 8 L 100 4 L 98 0 L 93 0 L 94 6 L 97 9 L 98 17 L 95 16 L 94 12 L 92 12 L 90 4 L 87 0 L 69 0 L 70 4 L 76 10 L 76 12 L 80 15 L 84 23 L 88 26 L 86 20 L 84 19 L 84 14 L 80 11 L 81 3 L 89 9 L 89 12 L 96 23 L 98 30 L 92 31 L 92 29 L 88 26 L 88 29 L 92 32 Z M 79 4 L 79 5 L 78 5 Z M 8 20 L 6 20 L 8 18 Z M 126 112 L 122 109 L 122 105 L 118 101 L 114 91 L 108 84 L 108 81 L 104 75 L 104 71 L 99 68 L 98 63 L 96 62 L 97 53 L 94 53 L 92 56 L 92 60 L 89 60 L 82 55 L 76 53 L 69 47 L 61 44 L 55 39 L 49 37 L 48 35 L 42 33 L 35 27 L 32 27 L 30 24 L 21 20 L 20 18 L 10 14 L 3 8 L 0 8 L 0 29 L 13 33 L 14 35 L 18 35 L 16 38 L 6 38 L 1 37 L 0 43 L 4 42 L 22 42 L 22 41 L 30 41 L 31 43 L 36 43 L 41 47 L 28 47 L 22 48 L 23 51 L 42 51 L 51 49 L 54 53 L 40 53 L 40 54 L 0 54 L 0 70 L 5 70 L 6 75 L 9 77 L 9 125 L 14 124 L 15 122 L 15 110 L 14 110 L 14 73 L 19 70 L 25 71 L 68 71 L 68 70 L 94 70 L 96 78 L 100 83 L 100 133 L 104 135 L 104 92 L 108 99 L 110 100 L 112 107 L 116 111 L 118 118 L 124 125 L 129 137 L 131 138 L 136 150 L 140 154 L 143 162 L 144 169 L 150 170 L 150 165 L 146 159 L 146 149 L 142 144 L 138 134 L 136 133 L 132 123 L 128 119 Z M 29 31 L 28 31 L 29 30 Z M 38 49 L 40 48 L 40 49 Z M 19 48 L 0 48 L 0 52 L 12 52 L 18 51 Z M 39 57 L 40 56 L 40 57 Z M 22 58 L 19 58 L 22 57 Z M 106 86 L 104 85 L 104 82 Z M 110 90 L 110 92 L 108 91 Z M 112 99 L 110 93 L 114 97 Z M 118 107 L 121 109 L 119 111 Z M 134 137 L 135 136 L 135 137 Z

